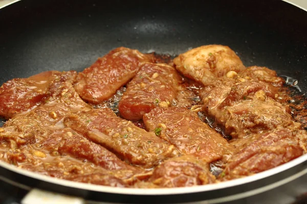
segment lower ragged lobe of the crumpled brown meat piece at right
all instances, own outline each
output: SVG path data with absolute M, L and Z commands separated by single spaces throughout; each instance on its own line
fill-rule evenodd
M 265 101 L 259 101 L 251 96 L 251 99 L 221 110 L 216 118 L 225 125 L 227 134 L 239 138 L 274 130 L 278 126 L 297 125 L 286 109 L 269 97 Z

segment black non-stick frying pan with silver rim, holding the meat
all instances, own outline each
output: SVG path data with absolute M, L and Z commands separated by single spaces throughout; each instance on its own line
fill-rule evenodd
M 126 46 L 170 54 L 224 44 L 246 66 L 267 66 L 307 92 L 307 12 L 282 1 L 23 0 L 0 10 L 0 84 L 46 70 L 81 71 Z M 122 189 L 62 181 L 0 162 L 0 178 L 89 200 L 225 202 L 306 182 L 307 155 L 243 179 L 174 189 Z M 277 195 L 278 196 L 278 195 Z M 260 199 L 260 198 L 259 198 Z

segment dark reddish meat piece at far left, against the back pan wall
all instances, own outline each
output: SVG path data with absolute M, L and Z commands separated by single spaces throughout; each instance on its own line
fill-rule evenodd
M 26 79 L 12 79 L 0 87 L 0 116 L 5 119 L 29 111 L 41 103 L 52 81 L 62 75 L 59 71 L 45 71 Z

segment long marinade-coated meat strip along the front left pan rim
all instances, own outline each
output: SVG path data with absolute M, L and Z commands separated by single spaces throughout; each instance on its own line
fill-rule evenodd
M 0 151 L 0 157 L 1 160 L 21 169 L 83 183 L 127 187 L 131 183 L 130 180 L 138 176 L 135 170 L 106 170 L 90 161 L 77 160 L 69 155 L 50 155 L 46 149 L 42 150 L 33 145 Z

